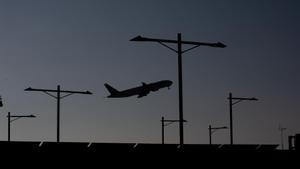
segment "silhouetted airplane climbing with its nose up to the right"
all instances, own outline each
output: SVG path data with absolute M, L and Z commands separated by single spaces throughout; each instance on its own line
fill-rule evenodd
M 162 80 L 159 82 L 149 83 L 149 84 L 142 82 L 142 86 L 123 90 L 123 91 L 118 91 L 117 89 L 113 88 L 107 83 L 105 83 L 104 86 L 110 93 L 110 95 L 107 96 L 108 98 L 122 98 L 122 97 L 130 97 L 134 95 L 138 95 L 138 98 L 141 98 L 147 96 L 150 93 L 150 91 L 155 92 L 164 87 L 168 87 L 168 89 L 170 89 L 172 83 L 173 82 L 170 80 Z

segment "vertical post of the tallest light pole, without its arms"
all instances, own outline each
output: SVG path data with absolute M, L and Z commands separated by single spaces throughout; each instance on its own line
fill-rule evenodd
M 179 89 L 179 139 L 180 146 L 184 144 L 183 135 L 183 94 L 182 94 L 182 43 L 181 33 L 177 34 L 177 46 L 178 46 L 178 89 Z

